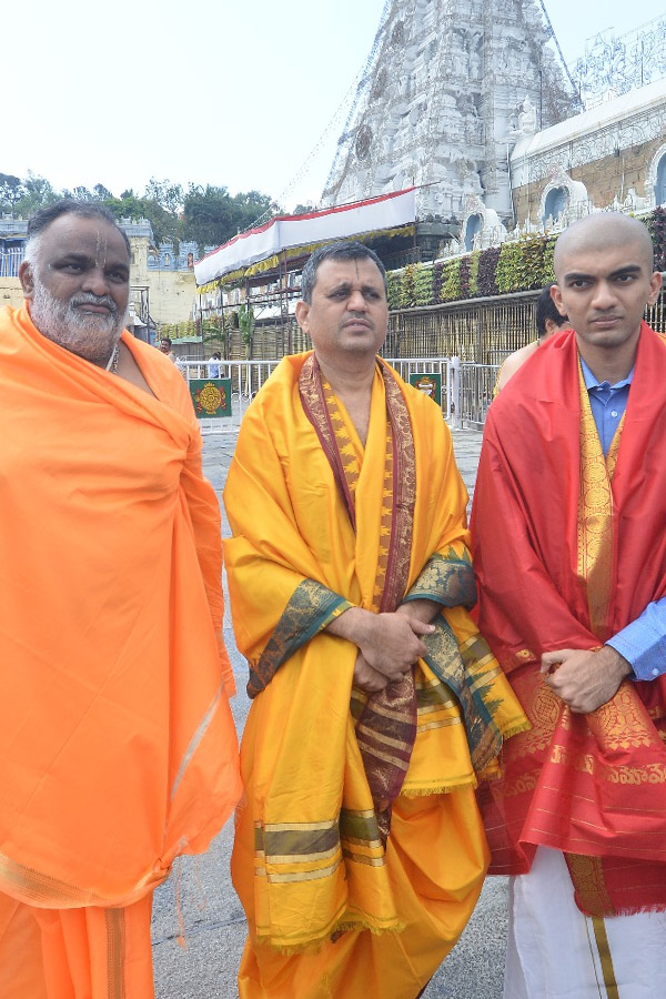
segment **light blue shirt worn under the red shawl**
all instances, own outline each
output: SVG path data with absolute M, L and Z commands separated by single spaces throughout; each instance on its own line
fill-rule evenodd
M 627 407 L 634 369 L 622 382 L 610 385 L 609 382 L 597 382 L 583 357 L 581 367 L 589 394 L 592 415 L 606 456 Z M 636 620 L 609 638 L 606 645 L 610 645 L 632 664 L 634 679 L 650 680 L 666 673 L 666 597 L 648 604 Z

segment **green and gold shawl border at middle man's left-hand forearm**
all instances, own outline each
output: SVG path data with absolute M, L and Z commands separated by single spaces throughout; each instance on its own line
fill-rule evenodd
M 322 583 L 303 579 L 292 593 L 259 660 L 250 664 L 249 696 L 256 697 L 283 663 L 352 606 Z

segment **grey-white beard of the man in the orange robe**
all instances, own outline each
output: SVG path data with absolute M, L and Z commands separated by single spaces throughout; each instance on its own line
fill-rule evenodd
M 81 312 L 83 304 L 104 305 L 109 313 Z M 125 324 L 127 313 L 120 315 L 110 295 L 80 292 L 69 302 L 61 302 L 33 273 L 30 317 L 37 329 L 67 351 L 102 366 L 110 359 Z

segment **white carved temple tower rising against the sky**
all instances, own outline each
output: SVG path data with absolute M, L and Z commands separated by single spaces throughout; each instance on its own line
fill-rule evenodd
M 386 0 L 322 200 L 416 184 L 421 220 L 508 226 L 511 149 L 575 107 L 542 0 Z

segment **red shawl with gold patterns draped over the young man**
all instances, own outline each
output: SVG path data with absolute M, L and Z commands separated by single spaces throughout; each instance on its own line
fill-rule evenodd
M 665 370 L 644 324 L 604 461 L 575 334 L 553 337 L 493 403 L 476 483 L 478 624 L 533 723 L 485 800 L 492 870 L 561 849 L 592 915 L 666 907 L 666 680 L 627 680 L 575 715 L 539 658 L 598 646 L 666 593 Z

